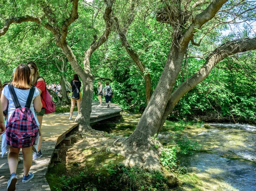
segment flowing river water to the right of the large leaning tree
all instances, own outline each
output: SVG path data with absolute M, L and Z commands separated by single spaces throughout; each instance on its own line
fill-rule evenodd
M 193 155 L 178 156 L 180 165 L 201 180 L 199 190 L 256 191 L 256 126 L 209 125 L 184 129 L 182 136 L 202 147 Z

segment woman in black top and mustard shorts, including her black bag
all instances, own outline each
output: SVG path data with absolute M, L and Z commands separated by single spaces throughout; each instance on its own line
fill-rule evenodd
M 71 93 L 71 107 L 70 107 L 70 117 L 69 120 L 72 120 L 72 115 L 74 111 L 75 104 L 77 105 L 77 111 L 80 112 L 80 105 L 81 105 L 81 99 L 82 94 L 80 91 L 81 88 L 81 82 L 79 80 L 79 77 L 77 74 L 74 74 L 73 80 L 71 80 L 70 85 L 72 87 L 72 93 Z M 76 95 L 75 95 L 76 94 Z

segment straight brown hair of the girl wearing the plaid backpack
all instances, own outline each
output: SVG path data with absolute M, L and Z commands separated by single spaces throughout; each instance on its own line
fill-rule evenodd
M 26 64 L 17 66 L 12 80 L 13 86 L 20 89 L 29 89 L 32 87 L 31 80 L 32 76 L 29 66 Z

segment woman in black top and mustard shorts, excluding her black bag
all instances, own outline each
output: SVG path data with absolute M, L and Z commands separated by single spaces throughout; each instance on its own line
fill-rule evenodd
M 75 104 L 77 105 L 77 111 L 79 113 L 80 111 L 80 105 L 81 105 L 81 99 L 82 99 L 82 95 L 81 95 L 81 91 L 80 91 L 80 88 L 81 88 L 81 82 L 79 80 L 79 77 L 77 74 L 74 74 L 73 76 L 73 80 L 71 80 L 70 82 L 70 85 L 72 87 L 72 92 L 78 88 L 79 90 L 79 99 L 78 100 L 73 100 L 72 99 L 72 94 L 71 93 L 71 107 L 70 107 L 70 117 L 68 118 L 69 120 L 72 120 L 72 115 L 73 115 L 73 111 L 74 111 L 74 107 L 75 107 Z

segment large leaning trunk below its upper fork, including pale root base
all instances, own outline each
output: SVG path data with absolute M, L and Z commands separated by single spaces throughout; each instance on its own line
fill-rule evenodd
M 163 73 L 140 118 L 137 128 L 127 140 L 122 142 L 123 149 L 130 153 L 125 155 L 129 165 L 143 165 L 151 170 L 161 170 L 159 151 L 163 147 L 157 140 L 151 137 L 154 137 L 161 127 L 160 124 L 163 117 L 165 117 L 166 105 L 171 97 L 171 92 L 182 66 L 186 47 L 180 48 L 180 46 L 177 46 L 178 43 L 178 39 L 172 41 Z M 155 149 L 156 144 L 159 145 L 157 149 Z M 111 151 L 119 152 L 116 148 L 112 148 Z M 132 154 L 134 152 L 136 154 Z

